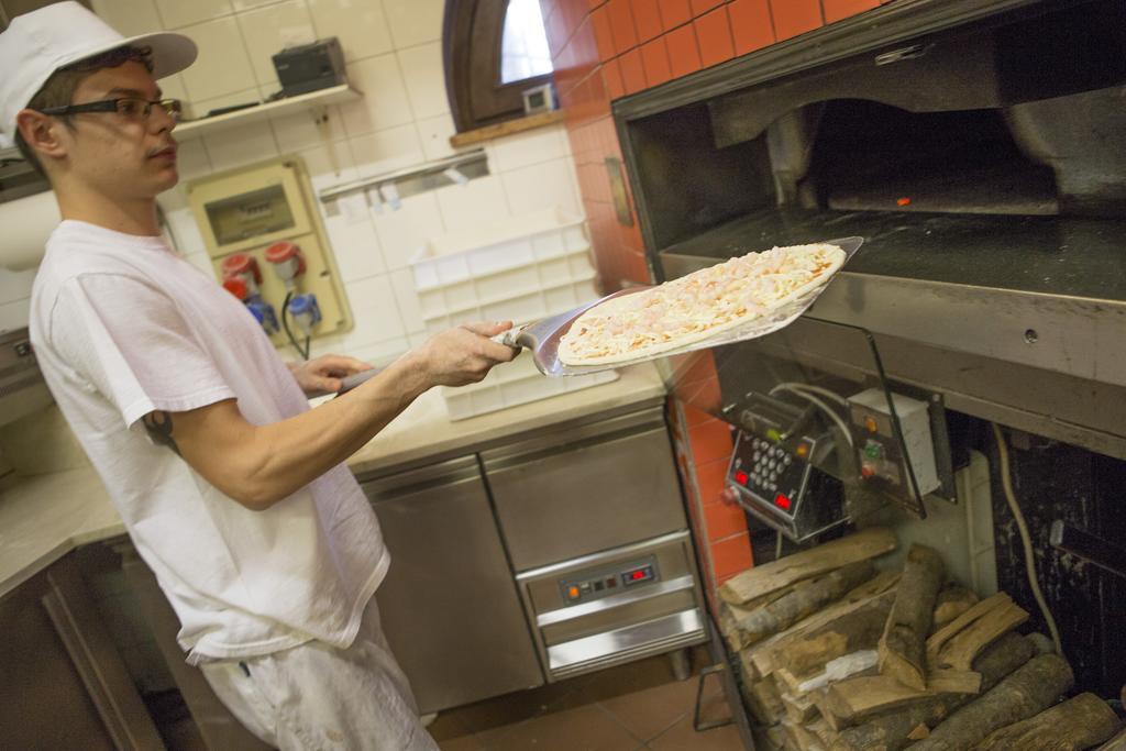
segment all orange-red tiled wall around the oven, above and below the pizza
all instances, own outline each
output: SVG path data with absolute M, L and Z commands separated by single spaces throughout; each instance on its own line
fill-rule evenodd
M 606 160 L 620 160 L 622 149 L 610 101 L 888 1 L 539 0 L 605 292 L 651 278 L 636 218 L 623 226 L 614 209 Z M 673 431 L 714 604 L 714 587 L 750 566 L 751 553 L 742 512 L 718 498 L 731 436 L 709 417 L 720 399 L 715 366 L 708 356 L 690 367 L 673 399 Z

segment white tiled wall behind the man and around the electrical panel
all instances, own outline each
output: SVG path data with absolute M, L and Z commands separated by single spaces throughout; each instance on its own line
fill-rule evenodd
M 256 124 L 186 142 L 180 150 L 182 181 L 297 153 L 314 190 L 453 153 L 441 62 L 444 6 L 443 0 L 93 0 L 97 12 L 123 34 L 166 28 L 196 41 L 199 59 L 162 80 L 161 88 L 197 114 L 276 91 L 270 57 L 284 45 L 339 37 L 348 78 L 365 96 L 331 107 L 323 133 L 311 114 L 298 113 L 269 127 Z M 356 328 L 314 342 L 314 355 L 390 359 L 425 339 L 408 262 L 428 238 L 549 205 L 580 213 L 563 125 L 485 149 L 492 171 L 486 178 L 412 196 L 395 212 L 325 216 Z M 180 250 L 209 270 L 181 189 L 160 200 Z M 0 329 L 26 324 L 33 277 L 0 269 Z

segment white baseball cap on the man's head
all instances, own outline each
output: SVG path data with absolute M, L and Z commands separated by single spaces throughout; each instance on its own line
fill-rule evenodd
M 56 70 L 131 45 L 152 50 L 154 79 L 178 73 L 196 59 L 196 43 L 182 34 L 126 38 L 74 0 L 14 18 L 0 34 L 0 134 L 16 135 L 16 115 Z

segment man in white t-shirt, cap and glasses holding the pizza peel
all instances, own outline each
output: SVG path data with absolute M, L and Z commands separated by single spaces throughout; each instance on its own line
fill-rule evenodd
M 60 409 L 181 624 L 180 644 L 253 733 L 283 749 L 435 749 L 372 597 L 390 560 L 342 462 L 428 388 L 513 357 L 507 323 L 366 366 L 292 372 L 258 323 L 160 235 L 178 102 L 155 80 L 190 39 L 125 39 L 75 2 L 0 34 L 0 131 L 50 179 L 63 222 L 32 296 Z

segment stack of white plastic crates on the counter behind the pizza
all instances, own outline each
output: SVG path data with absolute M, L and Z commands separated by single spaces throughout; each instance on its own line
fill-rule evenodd
M 526 323 L 598 297 L 583 221 L 557 209 L 432 239 L 412 260 L 427 331 L 467 321 Z M 527 355 L 479 384 L 443 388 L 452 420 L 494 412 L 617 379 L 614 370 L 547 378 Z

